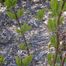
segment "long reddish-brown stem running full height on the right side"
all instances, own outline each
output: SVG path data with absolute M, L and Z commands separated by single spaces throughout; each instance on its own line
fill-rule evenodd
M 56 32 L 57 47 L 56 47 L 56 53 L 55 53 L 55 57 L 54 57 L 54 61 L 53 61 L 53 66 L 55 66 L 55 64 L 56 64 L 56 59 L 57 59 L 57 55 L 58 55 L 58 48 L 59 48 L 59 45 L 60 45 L 59 33 L 58 32 L 59 32 L 60 18 L 61 18 L 61 14 L 62 14 L 64 5 L 65 5 L 65 1 L 63 1 L 63 3 L 62 3 L 61 11 L 59 13 L 58 20 L 57 20 L 57 32 Z

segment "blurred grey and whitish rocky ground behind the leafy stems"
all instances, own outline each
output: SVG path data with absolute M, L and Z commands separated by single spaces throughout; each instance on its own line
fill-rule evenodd
M 24 7 L 24 15 L 19 18 L 21 23 L 28 22 L 32 26 L 32 30 L 25 33 L 26 40 L 28 44 L 31 45 L 30 52 L 34 53 L 34 66 L 47 66 L 47 53 L 48 53 L 48 43 L 50 41 L 50 35 L 47 24 L 48 18 L 51 16 L 48 10 L 44 16 L 42 22 L 36 20 L 34 15 L 37 10 L 42 8 L 50 8 L 49 1 L 34 0 L 30 2 L 29 0 L 18 0 L 18 7 Z M 64 12 L 64 17 L 65 12 Z M 14 56 L 25 56 L 26 51 L 22 51 L 18 48 L 18 45 L 23 42 L 23 37 L 21 37 L 16 32 L 17 22 L 10 19 L 6 15 L 6 7 L 0 4 L 0 55 L 4 55 L 5 63 L 3 66 L 17 66 L 15 63 Z M 66 31 L 66 22 L 60 28 L 61 33 Z M 66 39 L 65 39 L 66 40 Z

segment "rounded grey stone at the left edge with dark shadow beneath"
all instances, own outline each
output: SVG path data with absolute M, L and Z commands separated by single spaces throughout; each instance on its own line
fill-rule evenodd
M 12 31 L 8 29 L 2 29 L 2 31 L 0 31 L 0 44 L 8 43 L 12 37 L 13 37 Z

